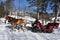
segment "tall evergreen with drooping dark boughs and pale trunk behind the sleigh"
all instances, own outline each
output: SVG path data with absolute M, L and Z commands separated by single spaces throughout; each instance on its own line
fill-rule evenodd
M 39 12 L 46 12 L 46 8 L 48 5 L 48 0 L 27 0 L 30 4 L 30 7 L 37 7 L 37 17 L 39 19 Z M 43 24 L 43 15 L 42 15 L 42 24 Z

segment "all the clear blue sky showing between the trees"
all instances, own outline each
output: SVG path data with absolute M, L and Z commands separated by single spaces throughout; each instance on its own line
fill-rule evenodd
M 6 0 L 1 0 L 1 1 L 6 1 Z M 28 2 L 26 0 L 14 0 L 14 5 L 15 5 L 15 8 L 18 10 L 20 9 L 22 11 L 22 9 L 26 6 L 29 6 Z M 20 6 L 20 7 L 19 7 Z M 35 8 L 35 7 L 34 7 Z M 33 8 L 32 8 L 33 9 Z M 32 10 L 31 9 L 31 10 Z M 48 9 L 50 9 L 50 7 L 48 6 Z M 30 10 L 30 9 L 29 9 Z M 24 9 L 23 9 L 24 11 Z M 50 9 L 50 10 L 46 10 L 48 13 L 52 13 L 53 11 Z

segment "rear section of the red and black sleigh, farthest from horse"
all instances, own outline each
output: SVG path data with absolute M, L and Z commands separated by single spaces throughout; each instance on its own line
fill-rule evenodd
M 52 33 L 53 28 L 58 29 L 59 23 L 48 23 L 45 27 L 42 26 L 43 32 Z

